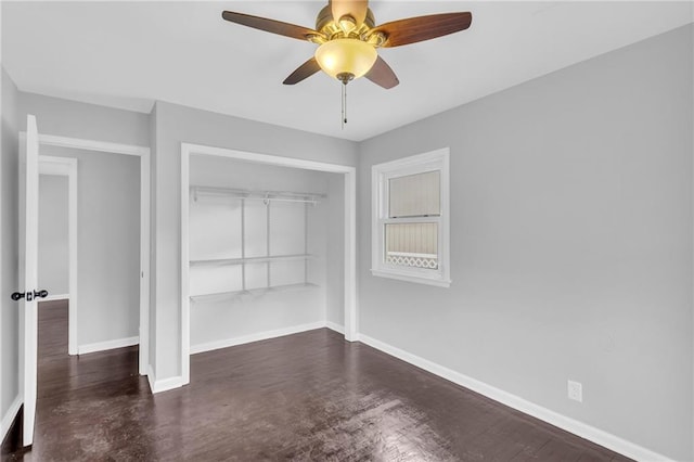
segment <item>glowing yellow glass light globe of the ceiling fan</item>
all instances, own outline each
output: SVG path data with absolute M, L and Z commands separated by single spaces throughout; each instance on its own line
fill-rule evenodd
M 377 57 L 378 53 L 372 44 L 352 38 L 331 40 L 316 50 L 318 65 L 333 78 L 339 74 L 362 77 L 371 70 Z

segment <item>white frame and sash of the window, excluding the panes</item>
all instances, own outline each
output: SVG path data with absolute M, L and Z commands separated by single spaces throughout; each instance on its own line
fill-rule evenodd
M 388 180 L 394 177 L 439 170 L 439 217 L 388 218 Z M 371 167 L 371 273 L 376 277 L 449 287 L 450 279 L 450 150 L 444 147 Z M 403 267 L 385 261 L 385 226 L 400 222 L 437 222 L 438 269 Z

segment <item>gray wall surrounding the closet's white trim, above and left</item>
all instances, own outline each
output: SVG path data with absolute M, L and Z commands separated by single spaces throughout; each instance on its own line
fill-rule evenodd
M 230 147 L 333 164 L 356 165 L 357 145 L 298 130 L 156 103 L 155 299 L 157 380 L 180 371 L 181 142 Z

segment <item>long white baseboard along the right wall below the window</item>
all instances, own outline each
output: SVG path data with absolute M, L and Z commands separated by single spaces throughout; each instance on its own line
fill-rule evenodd
M 484 395 L 487 398 L 493 399 L 494 401 L 501 402 L 502 405 L 509 406 L 510 408 L 513 408 L 536 419 L 565 429 L 569 433 L 578 435 L 581 438 L 593 441 L 596 445 L 603 446 L 615 452 L 619 452 L 620 454 L 628 458 L 644 462 L 673 462 L 671 459 L 668 459 L 663 454 L 654 452 L 634 442 L 627 441 L 626 439 L 622 439 L 611 433 L 604 432 L 600 428 L 595 428 L 594 426 L 588 425 L 583 422 L 567 418 L 566 415 L 562 415 L 550 409 L 538 406 L 535 402 L 530 402 L 526 399 L 488 385 L 476 378 L 461 374 L 460 372 L 455 372 L 451 369 L 448 369 L 424 358 L 420 358 L 419 356 L 412 355 L 411 352 L 404 351 L 400 348 L 394 347 L 368 335 L 359 334 L 359 341 L 385 354 L 401 359 L 404 362 L 409 362 L 412 365 L 424 369 L 425 371 L 453 382 L 454 384 L 472 389 L 473 392 Z

